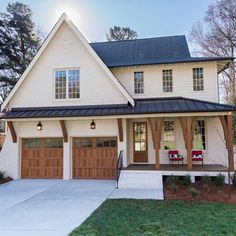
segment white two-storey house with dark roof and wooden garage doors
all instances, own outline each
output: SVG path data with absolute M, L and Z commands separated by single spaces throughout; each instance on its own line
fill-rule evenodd
M 234 171 L 236 107 L 219 104 L 218 87 L 232 60 L 191 57 L 182 35 L 88 43 L 63 14 L 2 104 L 0 169 L 15 179 L 115 179 L 120 155 L 130 173 Z

